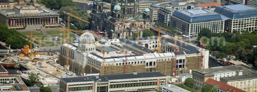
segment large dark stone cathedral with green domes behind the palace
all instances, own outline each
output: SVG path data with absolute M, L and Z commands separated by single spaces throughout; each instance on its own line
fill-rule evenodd
M 110 39 L 128 38 L 137 33 L 137 24 L 140 29 L 149 29 L 150 10 L 146 8 L 139 14 L 139 0 L 113 0 L 111 11 L 103 10 L 103 1 L 94 0 L 91 11 L 91 30 L 108 32 L 105 36 Z

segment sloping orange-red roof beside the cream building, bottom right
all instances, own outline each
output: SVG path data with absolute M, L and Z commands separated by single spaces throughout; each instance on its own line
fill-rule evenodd
M 206 84 L 212 85 L 212 88 L 217 89 L 218 92 L 245 92 L 244 90 L 238 89 L 236 87 L 230 86 L 226 83 L 219 82 L 219 81 L 211 79 L 211 78 L 207 79 L 204 82 L 204 85 L 206 85 Z M 252 92 L 254 92 L 254 91 L 252 91 Z

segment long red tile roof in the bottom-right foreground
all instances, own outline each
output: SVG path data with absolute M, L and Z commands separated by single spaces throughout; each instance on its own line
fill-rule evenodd
M 230 91 L 233 90 L 234 92 L 246 92 L 244 90 L 241 90 L 239 88 L 227 85 L 223 82 L 219 82 L 219 81 L 211 79 L 211 78 L 207 79 L 204 83 L 210 84 L 212 86 L 217 85 L 220 89 L 225 90 L 225 91 L 227 91 L 229 89 Z

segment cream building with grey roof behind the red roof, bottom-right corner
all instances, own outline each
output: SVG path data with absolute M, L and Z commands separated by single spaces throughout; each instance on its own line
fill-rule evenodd
M 255 92 L 257 89 L 257 75 L 247 73 L 241 76 L 231 76 L 220 78 L 220 82 L 224 82 L 233 87 L 242 89 L 246 92 Z

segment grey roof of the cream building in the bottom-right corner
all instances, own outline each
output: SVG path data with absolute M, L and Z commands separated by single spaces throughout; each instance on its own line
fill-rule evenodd
M 257 76 L 253 74 L 247 74 L 247 75 L 241 75 L 241 76 L 223 77 L 221 79 L 226 81 L 233 81 L 233 80 L 244 80 L 244 79 L 251 79 L 251 78 L 257 78 Z

